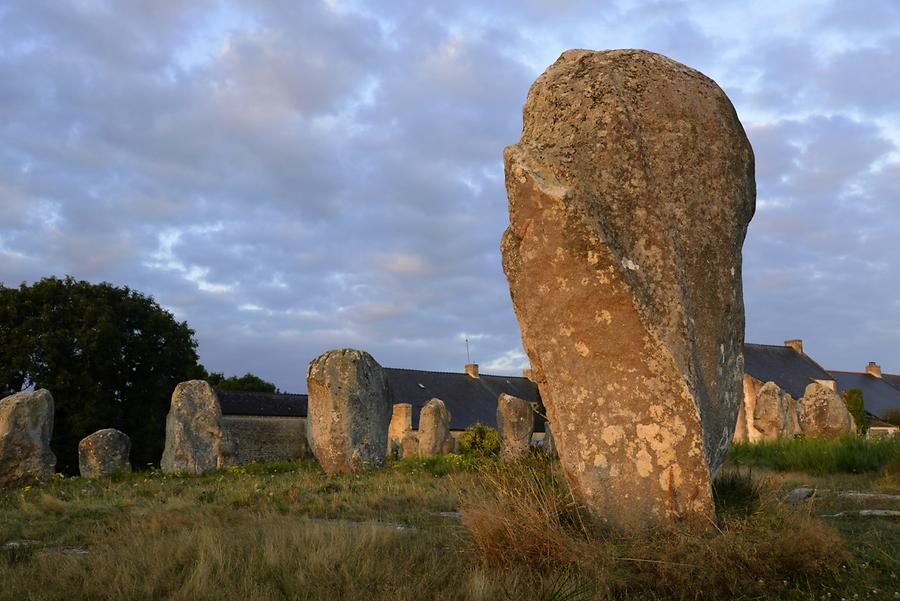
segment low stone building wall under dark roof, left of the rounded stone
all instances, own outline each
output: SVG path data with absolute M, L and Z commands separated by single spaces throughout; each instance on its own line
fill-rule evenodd
M 237 440 L 237 462 L 298 459 L 309 455 L 305 417 L 224 415 L 223 425 Z

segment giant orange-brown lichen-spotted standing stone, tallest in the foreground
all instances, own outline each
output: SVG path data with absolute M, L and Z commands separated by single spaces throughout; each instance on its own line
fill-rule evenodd
M 711 527 L 755 207 L 734 108 L 664 56 L 570 50 L 504 159 L 503 267 L 567 479 L 615 527 Z

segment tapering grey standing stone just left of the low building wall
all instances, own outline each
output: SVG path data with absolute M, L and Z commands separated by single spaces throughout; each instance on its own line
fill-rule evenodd
M 203 474 L 235 463 L 235 441 L 222 425 L 216 391 L 203 380 L 182 382 L 166 417 L 164 472 Z

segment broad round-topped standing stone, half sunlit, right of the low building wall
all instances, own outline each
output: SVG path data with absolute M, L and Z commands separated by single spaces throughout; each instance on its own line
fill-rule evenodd
M 365 351 L 338 349 L 309 364 L 309 427 L 328 473 L 384 465 L 393 394 L 384 370 Z

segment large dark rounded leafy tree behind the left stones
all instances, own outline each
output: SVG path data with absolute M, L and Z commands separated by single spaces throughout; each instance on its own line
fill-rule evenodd
M 109 427 L 131 437 L 136 467 L 158 462 L 172 391 L 206 373 L 196 348 L 187 323 L 127 287 L 71 277 L 0 286 L 0 390 L 53 394 L 60 471 L 75 472 L 78 441 Z

